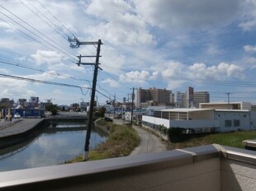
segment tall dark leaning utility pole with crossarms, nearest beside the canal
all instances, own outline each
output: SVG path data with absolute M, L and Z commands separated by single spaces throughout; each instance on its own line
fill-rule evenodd
M 85 145 L 84 145 L 84 155 L 83 155 L 83 161 L 88 161 L 88 154 L 89 154 L 89 145 L 90 145 L 90 137 L 92 132 L 92 114 L 93 114 L 93 106 L 94 106 L 94 99 L 95 99 L 95 92 L 96 92 L 96 85 L 97 85 L 97 70 L 99 68 L 99 58 L 100 52 L 101 52 L 101 45 L 102 40 L 98 40 L 97 42 L 80 42 L 77 38 L 74 38 L 71 40 L 69 38 L 70 47 L 72 49 L 79 48 L 80 45 L 97 45 L 97 55 L 96 56 L 82 56 L 81 54 L 78 56 L 78 66 L 82 65 L 94 65 L 94 72 L 93 72 L 93 79 L 92 79 L 92 95 L 91 95 L 91 101 L 90 101 L 90 109 L 89 109 L 89 119 L 88 119 L 88 130 L 86 133 L 86 139 L 85 139 Z M 75 42 L 76 44 L 73 44 Z M 95 57 L 95 63 L 81 63 L 81 58 L 89 58 L 89 57 Z M 101 69 L 101 68 L 100 68 Z

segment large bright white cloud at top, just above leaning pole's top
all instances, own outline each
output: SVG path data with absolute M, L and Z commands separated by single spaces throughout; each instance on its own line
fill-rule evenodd
M 154 44 L 146 22 L 126 1 L 92 0 L 85 12 L 102 19 L 97 27 L 87 29 L 92 36 L 102 36 L 111 44 Z

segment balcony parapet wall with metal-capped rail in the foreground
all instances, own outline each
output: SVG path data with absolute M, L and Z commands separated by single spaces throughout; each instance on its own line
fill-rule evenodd
M 220 145 L 0 173 L 2 190 L 256 190 L 256 152 Z

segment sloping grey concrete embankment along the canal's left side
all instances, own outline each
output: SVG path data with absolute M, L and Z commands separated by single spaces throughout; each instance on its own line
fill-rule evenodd
M 36 137 L 45 128 L 46 123 L 44 119 L 21 119 L 17 123 L 2 126 L 0 128 L 0 149 Z

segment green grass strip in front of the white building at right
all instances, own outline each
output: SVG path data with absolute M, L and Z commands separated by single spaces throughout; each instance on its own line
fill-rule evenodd
M 183 142 L 170 143 L 169 149 L 197 147 L 208 144 L 220 144 L 230 147 L 244 148 L 242 142 L 246 139 L 256 139 L 256 131 L 234 132 L 234 133 L 215 133 L 204 136 L 192 137 Z

